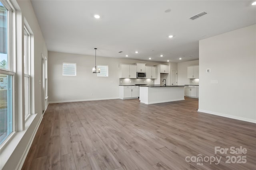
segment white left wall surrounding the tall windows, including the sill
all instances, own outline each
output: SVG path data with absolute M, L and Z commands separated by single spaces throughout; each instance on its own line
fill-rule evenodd
M 44 37 L 42 36 L 41 29 L 39 27 L 38 21 L 34 14 L 34 9 L 32 8 L 30 1 L 11 1 L 15 10 L 16 10 L 16 19 L 19 20 L 19 23 L 16 24 L 16 36 L 18 37 L 16 43 L 16 54 L 17 57 L 22 54 L 22 37 L 24 29 L 24 18 L 28 25 L 30 26 L 34 42 L 34 55 L 32 55 L 32 72 L 31 72 L 31 81 L 32 81 L 32 103 L 34 103 L 34 108 L 32 109 L 33 114 L 25 123 L 24 130 L 17 131 L 14 133 L 13 139 L 10 140 L 10 143 L 1 148 L 1 163 L 0 166 L 3 170 L 14 170 L 20 169 L 26 154 L 31 145 L 32 139 L 37 131 L 37 127 L 42 118 L 42 99 L 41 99 L 41 85 L 38 83 L 41 79 L 41 54 L 47 57 L 48 51 L 46 44 L 44 42 Z M 21 55 L 22 56 L 22 55 Z M 18 59 L 19 60 L 19 59 Z M 16 74 L 16 76 L 21 76 Z M 21 104 L 19 104 L 21 105 Z M 17 113 L 21 113 L 17 110 Z M 23 113 L 24 114 L 24 113 Z M 20 120 L 18 120 L 20 121 Z

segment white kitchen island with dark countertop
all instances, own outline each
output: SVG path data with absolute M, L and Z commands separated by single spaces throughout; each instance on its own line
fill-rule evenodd
M 155 104 L 184 100 L 184 86 L 140 86 L 140 102 Z

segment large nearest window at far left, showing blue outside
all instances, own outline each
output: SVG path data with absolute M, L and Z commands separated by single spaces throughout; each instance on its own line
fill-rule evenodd
M 14 80 L 12 63 L 12 10 L 0 2 L 0 145 L 14 130 Z

